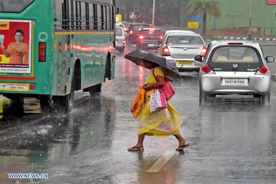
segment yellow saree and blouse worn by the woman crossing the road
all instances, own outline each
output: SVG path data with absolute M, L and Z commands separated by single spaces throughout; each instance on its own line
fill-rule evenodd
M 154 69 L 155 76 L 164 77 L 164 72 L 160 67 Z M 147 76 L 149 75 L 149 72 Z M 156 80 L 150 72 L 147 84 L 154 84 Z M 150 113 L 150 94 L 154 90 L 147 91 L 145 95 L 145 106 L 139 117 L 138 135 L 146 133 L 146 135 L 155 135 L 156 137 L 167 137 L 169 135 L 179 135 L 179 127 L 183 123 L 178 112 L 173 108 L 172 104 L 167 100 L 168 107 L 157 113 Z M 167 117 L 166 111 L 169 112 L 170 118 Z

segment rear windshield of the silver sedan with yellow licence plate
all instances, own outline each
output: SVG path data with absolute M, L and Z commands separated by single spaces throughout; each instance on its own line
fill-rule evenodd
M 200 37 L 194 36 L 169 36 L 166 44 L 183 44 L 183 45 L 203 45 Z

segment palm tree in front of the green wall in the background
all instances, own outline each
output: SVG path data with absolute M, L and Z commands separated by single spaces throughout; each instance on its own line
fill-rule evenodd
M 216 18 L 221 18 L 220 4 L 216 0 L 192 0 L 188 4 L 187 14 L 196 16 L 200 14 L 203 19 L 202 34 L 206 34 L 207 14 Z

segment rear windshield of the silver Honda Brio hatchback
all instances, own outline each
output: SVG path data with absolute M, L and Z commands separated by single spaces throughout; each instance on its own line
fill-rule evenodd
M 244 46 L 226 46 L 216 49 L 212 56 L 213 63 L 258 63 L 255 50 Z

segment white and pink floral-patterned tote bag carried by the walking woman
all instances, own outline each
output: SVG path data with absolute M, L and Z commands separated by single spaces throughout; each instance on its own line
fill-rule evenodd
M 157 89 L 156 89 L 157 86 Z M 157 113 L 167 108 L 167 102 L 164 93 L 154 84 L 155 91 L 150 94 L 150 113 Z

